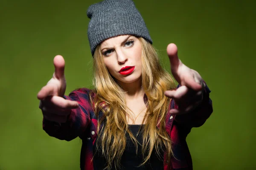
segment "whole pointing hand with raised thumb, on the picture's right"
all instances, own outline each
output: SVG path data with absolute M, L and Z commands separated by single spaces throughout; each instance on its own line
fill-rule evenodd
M 178 109 L 171 109 L 171 114 L 189 113 L 200 105 L 205 83 L 197 71 L 184 65 L 177 55 L 177 46 L 173 43 L 167 46 L 173 77 L 181 85 L 176 90 L 165 91 L 165 95 L 175 100 Z

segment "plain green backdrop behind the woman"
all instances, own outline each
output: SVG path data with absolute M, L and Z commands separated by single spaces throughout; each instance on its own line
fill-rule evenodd
M 66 61 L 66 94 L 92 87 L 87 39 L 89 0 L 0 1 L 0 170 L 79 170 L 81 140 L 42 130 L 36 97 Z M 253 170 L 255 151 L 256 1 L 135 0 L 153 45 L 170 71 L 166 46 L 198 71 L 214 112 L 187 138 L 195 170 Z

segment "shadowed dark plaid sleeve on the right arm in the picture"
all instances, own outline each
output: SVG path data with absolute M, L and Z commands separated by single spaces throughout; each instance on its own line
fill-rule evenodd
M 206 84 L 206 83 L 205 83 Z M 179 88 L 180 85 L 177 86 Z M 181 115 L 173 115 L 173 118 L 178 124 L 187 127 L 200 127 L 204 124 L 204 122 L 209 118 L 213 109 L 212 109 L 212 100 L 209 98 L 209 93 L 211 91 L 207 87 L 204 88 L 204 96 L 201 105 L 195 108 L 191 113 L 181 114 Z M 171 109 L 175 108 L 178 109 L 178 105 L 175 103 L 174 100 L 171 101 Z

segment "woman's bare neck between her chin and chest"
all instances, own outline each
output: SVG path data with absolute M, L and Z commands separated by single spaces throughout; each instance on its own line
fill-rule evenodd
M 119 82 L 123 90 L 126 91 L 125 98 L 127 100 L 139 98 L 144 96 L 141 79 L 131 83 Z

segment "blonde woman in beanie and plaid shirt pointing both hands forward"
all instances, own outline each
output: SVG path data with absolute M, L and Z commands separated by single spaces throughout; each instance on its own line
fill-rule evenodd
M 82 139 L 82 170 L 191 170 L 186 136 L 212 113 L 201 76 L 169 44 L 175 88 L 131 0 L 105 0 L 87 16 L 95 88 L 65 96 L 64 59 L 56 56 L 55 73 L 38 92 L 44 130 L 61 140 Z

